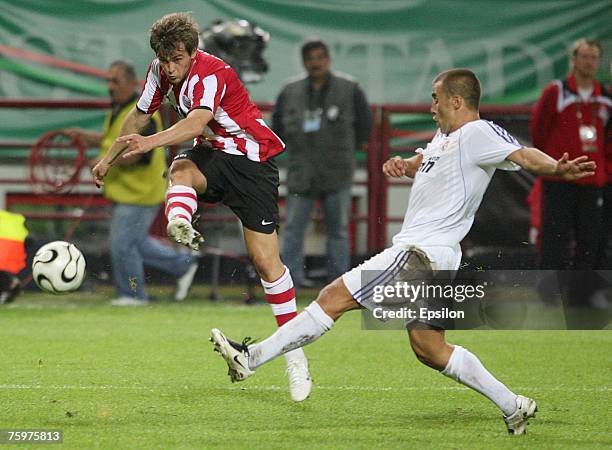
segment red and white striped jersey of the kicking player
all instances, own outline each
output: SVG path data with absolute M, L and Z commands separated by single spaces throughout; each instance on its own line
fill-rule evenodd
M 246 155 L 252 161 L 265 161 L 285 148 L 264 122 L 234 69 L 209 53 L 197 51 L 189 74 L 180 85 L 170 84 L 159 59 L 154 59 L 136 107 L 152 114 L 164 97 L 182 117 L 197 108 L 213 113 L 208 130 L 202 130 L 203 136 L 196 139 L 196 144 L 206 136 L 214 148 Z

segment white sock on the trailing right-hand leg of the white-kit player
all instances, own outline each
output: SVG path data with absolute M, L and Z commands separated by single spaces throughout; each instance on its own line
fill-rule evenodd
M 472 352 L 455 345 L 442 374 L 487 397 L 509 416 L 516 411 L 516 394 L 498 381 Z

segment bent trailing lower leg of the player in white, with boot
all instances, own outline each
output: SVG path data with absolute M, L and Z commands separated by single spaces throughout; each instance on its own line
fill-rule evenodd
M 537 411 L 534 400 L 513 393 L 469 350 L 448 344 L 444 339 L 444 331 L 418 328 L 408 333 L 410 345 L 419 361 L 480 392 L 495 403 L 504 415 L 509 433 L 526 432 L 527 420 L 535 417 Z

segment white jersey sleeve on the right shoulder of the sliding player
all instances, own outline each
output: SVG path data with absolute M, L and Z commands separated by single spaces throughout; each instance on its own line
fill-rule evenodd
M 518 164 L 506 158 L 523 145 L 499 125 L 483 120 L 474 127 L 468 140 L 467 152 L 474 164 L 501 170 L 520 170 Z

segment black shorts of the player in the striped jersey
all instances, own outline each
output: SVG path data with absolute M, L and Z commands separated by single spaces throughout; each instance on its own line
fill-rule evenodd
M 221 202 L 249 230 L 272 234 L 278 228 L 278 168 L 273 160 L 251 161 L 246 156 L 196 145 L 174 160 L 193 161 L 206 177 L 207 187 L 198 199 Z

